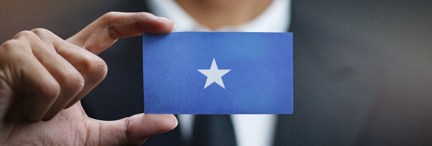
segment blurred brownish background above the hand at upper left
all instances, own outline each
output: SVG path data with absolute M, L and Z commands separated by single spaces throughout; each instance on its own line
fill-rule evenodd
M 0 42 L 11 39 L 22 30 L 35 28 L 48 29 L 66 39 L 105 13 L 137 4 L 132 1 L 1 0 Z

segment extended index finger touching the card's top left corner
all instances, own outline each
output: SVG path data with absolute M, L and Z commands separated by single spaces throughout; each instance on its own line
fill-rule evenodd
M 175 23 L 151 13 L 110 12 L 90 23 L 66 41 L 99 54 L 118 38 L 141 35 L 143 32 L 166 34 L 174 30 Z

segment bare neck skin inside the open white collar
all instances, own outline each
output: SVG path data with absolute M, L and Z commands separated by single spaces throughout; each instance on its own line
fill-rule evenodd
M 211 30 L 251 21 L 272 0 L 175 0 L 198 23 Z

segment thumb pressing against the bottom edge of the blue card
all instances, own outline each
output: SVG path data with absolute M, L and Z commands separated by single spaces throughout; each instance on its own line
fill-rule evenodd
M 172 114 L 136 114 L 117 121 L 99 121 L 98 140 L 101 146 L 140 145 L 149 136 L 163 133 L 177 127 L 177 119 Z

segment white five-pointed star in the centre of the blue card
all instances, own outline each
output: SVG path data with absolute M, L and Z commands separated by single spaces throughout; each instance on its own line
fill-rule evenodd
M 212 66 L 210 67 L 210 70 L 198 70 L 198 71 L 207 76 L 206 85 L 204 86 L 204 89 L 206 89 L 207 86 L 215 82 L 220 86 L 222 86 L 223 89 L 225 89 L 225 86 L 223 85 L 222 82 L 222 76 L 228 73 L 230 70 L 218 70 L 215 58 L 213 58 L 213 62 L 212 62 Z

